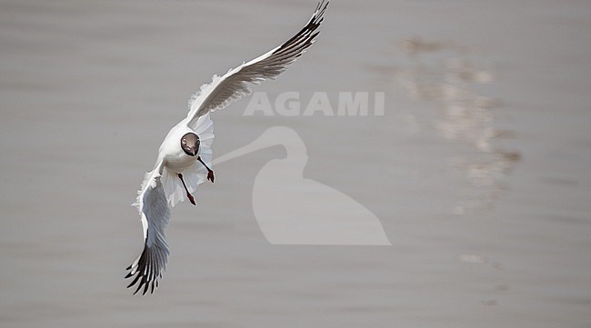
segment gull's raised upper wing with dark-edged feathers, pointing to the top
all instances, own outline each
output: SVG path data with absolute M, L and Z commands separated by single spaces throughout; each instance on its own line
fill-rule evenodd
M 277 46 L 265 55 L 261 55 L 236 68 L 230 69 L 225 75 L 214 75 L 213 81 L 203 84 L 201 89 L 189 100 L 189 114 L 186 117 L 189 126 L 195 125 L 199 116 L 222 109 L 240 99 L 251 90 L 246 83 L 260 84 L 267 79 L 275 79 L 285 71 L 287 65 L 306 52 L 314 43 L 318 26 L 323 21 L 328 2 L 322 0 L 308 23 L 283 45 Z

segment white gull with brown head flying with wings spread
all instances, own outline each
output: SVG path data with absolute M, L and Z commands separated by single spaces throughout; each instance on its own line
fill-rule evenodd
M 165 226 L 170 209 L 186 198 L 195 204 L 193 194 L 199 184 L 214 182 L 211 145 L 214 124 L 210 113 L 251 93 L 248 84 L 260 84 L 275 79 L 288 65 L 312 45 L 318 35 L 328 5 L 322 0 L 304 28 L 271 51 L 245 62 L 225 75 L 214 75 L 212 82 L 203 84 L 189 99 L 189 113 L 165 136 L 158 150 L 154 169 L 145 174 L 137 195 L 143 232 L 144 250 L 131 265 L 125 278 L 133 279 L 127 287 L 137 285 L 154 293 L 168 259 Z M 186 196 L 186 198 L 185 198 Z

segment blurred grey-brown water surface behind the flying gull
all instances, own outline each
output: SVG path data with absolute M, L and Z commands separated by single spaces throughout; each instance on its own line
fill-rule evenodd
M 385 114 L 245 116 L 246 99 L 213 115 L 214 155 L 294 129 L 304 176 L 392 246 L 267 243 L 251 197 L 274 146 L 216 166 L 173 211 L 160 289 L 125 289 L 130 204 L 189 95 L 315 6 L 0 2 L 0 326 L 589 327 L 586 1 L 334 0 L 310 51 L 255 91 L 385 92 Z

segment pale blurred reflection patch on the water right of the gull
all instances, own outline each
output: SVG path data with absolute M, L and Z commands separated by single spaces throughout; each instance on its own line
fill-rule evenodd
M 503 189 L 506 174 L 521 154 L 498 146 L 496 140 L 515 136 L 496 126 L 494 110 L 501 99 L 487 94 L 481 86 L 496 82 L 495 68 L 473 47 L 407 38 L 399 45 L 408 65 L 396 70 L 396 80 L 416 101 L 434 102 L 438 113 L 430 117 L 438 135 L 469 145 L 476 154 L 454 154 L 449 163 L 462 170 L 466 179 L 481 192 L 476 199 L 459 200 L 454 214 L 486 211 L 494 206 Z M 484 89 L 484 90 L 483 90 Z M 412 113 L 409 120 L 417 122 Z

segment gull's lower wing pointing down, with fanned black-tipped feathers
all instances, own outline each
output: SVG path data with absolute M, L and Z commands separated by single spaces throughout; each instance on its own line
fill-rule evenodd
M 165 238 L 165 226 L 170 219 L 170 209 L 166 200 L 165 189 L 161 182 L 161 166 L 145 174 L 142 189 L 137 196 L 137 208 L 144 226 L 144 251 L 127 267 L 125 278 L 133 278 L 127 288 L 137 283 L 135 293 L 144 287 L 144 294 L 150 289 L 154 293 L 158 279 L 165 271 L 168 258 L 168 244 Z M 134 294 L 135 294 L 134 293 Z

